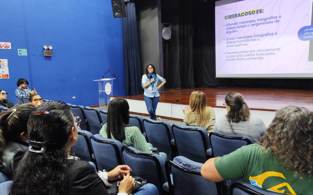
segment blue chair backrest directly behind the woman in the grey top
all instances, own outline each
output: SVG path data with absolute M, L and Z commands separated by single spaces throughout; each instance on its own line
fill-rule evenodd
M 213 131 L 209 134 L 212 155 L 215 157 L 230 154 L 233 151 L 254 144 L 254 139 L 247 135 L 225 134 L 220 131 Z

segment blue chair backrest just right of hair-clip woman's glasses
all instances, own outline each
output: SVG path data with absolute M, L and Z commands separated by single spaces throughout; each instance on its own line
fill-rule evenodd
M 92 134 L 89 131 L 78 130 L 77 143 L 72 147 L 75 152 L 75 156 L 80 158 L 80 160 L 91 161 L 93 159 L 91 155 L 93 154 L 90 137 Z

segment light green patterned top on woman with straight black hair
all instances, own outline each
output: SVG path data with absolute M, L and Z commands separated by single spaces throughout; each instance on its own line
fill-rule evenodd
M 100 135 L 104 138 L 108 138 L 106 136 L 106 123 L 102 126 L 100 130 Z M 151 147 L 148 146 L 147 141 L 143 134 L 141 134 L 140 130 L 136 126 L 125 127 L 125 140 L 122 141 L 124 146 L 132 146 L 137 150 L 142 152 L 152 153 Z M 111 133 L 111 139 L 115 139 Z

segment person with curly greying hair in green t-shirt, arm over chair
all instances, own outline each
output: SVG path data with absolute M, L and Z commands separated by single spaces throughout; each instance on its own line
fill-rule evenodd
M 269 191 L 306 195 L 313 191 L 313 114 L 299 106 L 276 112 L 261 142 L 210 158 L 201 174 L 214 182 L 244 177 Z

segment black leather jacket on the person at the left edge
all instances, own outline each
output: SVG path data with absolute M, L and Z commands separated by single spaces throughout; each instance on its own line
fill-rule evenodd
M 6 148 L 0 153 L 0 171 L 3 172 L 10 180 L 19 168 L 19 163 L 27 152 L 28 143 L 16 140 L 9 141 Z

